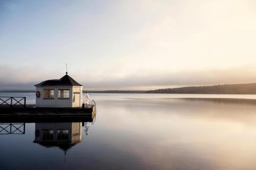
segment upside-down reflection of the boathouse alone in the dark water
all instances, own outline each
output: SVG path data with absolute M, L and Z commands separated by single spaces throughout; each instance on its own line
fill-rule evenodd
M 35 123 L 35 143 L 66 151 L 82 141 L 82 123 Z

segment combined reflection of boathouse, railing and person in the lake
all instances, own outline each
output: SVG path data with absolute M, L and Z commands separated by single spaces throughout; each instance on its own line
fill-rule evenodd
M 2 121 L 1 121 L 2 120 Z M 18 123 L 20 119 L 7 118 L 0 120 L 0 135 L 19 135 L 25 134 L 26 123 Z M 7 123 L 9 121 L 14 123 Z M 30 122 L 35 122 L 35 140 L 34 143 L 38 143 L 44 147 L 58 147 L 66 152 L 75 144 L 82 141 L 82 128 L 86 135 L 89 133 L 90 123 L 93 125 L 96 120 L 96 115 L 89 117 L 84 122 L 66 122 L 66 123 L 37 123 L 37 121 L 47 121 L 48 119 L 30 119 Z M 63 121 L 67 121 L 61 119 Z M 56 121 L 61 121 L 56 119 Z M 74 119 L 71 119 L 72 121 Z M 77 119 L 76 119 L 77 120 Z M 51 121 L 54 121 L 51 119 Z M 74 120 L 75 121 L 75 120 Z M 6 122 L 6 123 L 5 123 Z

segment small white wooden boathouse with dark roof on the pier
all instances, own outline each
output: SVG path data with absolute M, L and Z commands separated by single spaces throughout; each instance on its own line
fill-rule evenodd
M 46 80 L 35 85 L 36 107 L 82 107 L 82 88 L 66 75 L 58 80 Z

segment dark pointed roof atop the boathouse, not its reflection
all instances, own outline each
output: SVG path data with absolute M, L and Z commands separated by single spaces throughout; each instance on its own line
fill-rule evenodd
M 77 83 L 74 79 L 72 79 L 68 74 L 63 76 L 60 79 L 56 80 L 46 80 L 35 86 L 82 86 Z

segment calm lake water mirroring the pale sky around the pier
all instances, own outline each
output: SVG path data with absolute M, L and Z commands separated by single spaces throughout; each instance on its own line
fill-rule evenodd
M 34 93 L 0 96 L 35 101 Z M 90 97 L 97 115 L 84 126 L 22 123 L 14 124 L 20 127 L 14 133 L 21 134 L 3 134 L 10 124 L 0 123 L 0 169 L 256 169 L 256 95 Z M 67 127 L 73 127 L 72 134 Z M 45 139 L 60 138 L 62 143 L 42 142 L 38 129 L 45 130 Z M 67 147 L 63 141 L 68 135 L 72 140 Z

